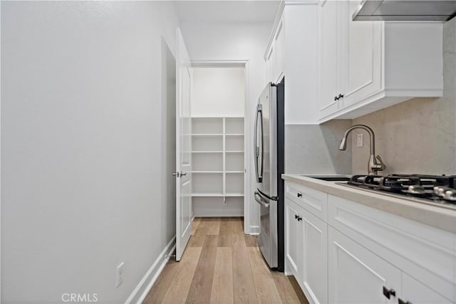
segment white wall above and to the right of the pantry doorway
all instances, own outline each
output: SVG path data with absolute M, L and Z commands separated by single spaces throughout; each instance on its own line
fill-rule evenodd
M 259 207 L 253 199 L 256 187 L 252 145 L 254 110 L 259 95 L 266 86 L 266 65 L 263 55 L 271 31 L 271 23 L 182 23 L 182 35 L 192 61 L 248 61 L 246 133 L 247 175 L 246 204 L 249 214 L 244 214 L 247 233 L 259 232 Z

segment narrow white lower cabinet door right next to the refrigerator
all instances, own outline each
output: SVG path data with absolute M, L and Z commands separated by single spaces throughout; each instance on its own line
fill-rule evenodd
M 301 214 L 301 209 L 289 199 L 285 199 L 285 272 L 286 275 L 294 275 L 299 281 L 301 269 L 299 256 L 301 255 L 301 223 L 296 216 Z

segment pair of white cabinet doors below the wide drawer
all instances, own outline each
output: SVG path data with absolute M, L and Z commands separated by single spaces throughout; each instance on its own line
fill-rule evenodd
M 331 226 L 328 241 L 329 303 L 452 303 Z

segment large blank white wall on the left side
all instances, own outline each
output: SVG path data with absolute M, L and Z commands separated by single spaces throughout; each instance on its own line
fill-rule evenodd
M 176 26 L 167 2 L 1 2 L 1 303 L 122 303 L 174 236 L 157 113 Z

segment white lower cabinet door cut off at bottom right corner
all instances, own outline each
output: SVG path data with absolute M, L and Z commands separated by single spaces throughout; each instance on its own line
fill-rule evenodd
M 427 285 L 415 280 L 408 274 L 402 274 L 402 293 L 399 295 L 403 303 L 413 304 L 449 304 L 452 300 L 444 298 L 439 293 L 427 287 Z

